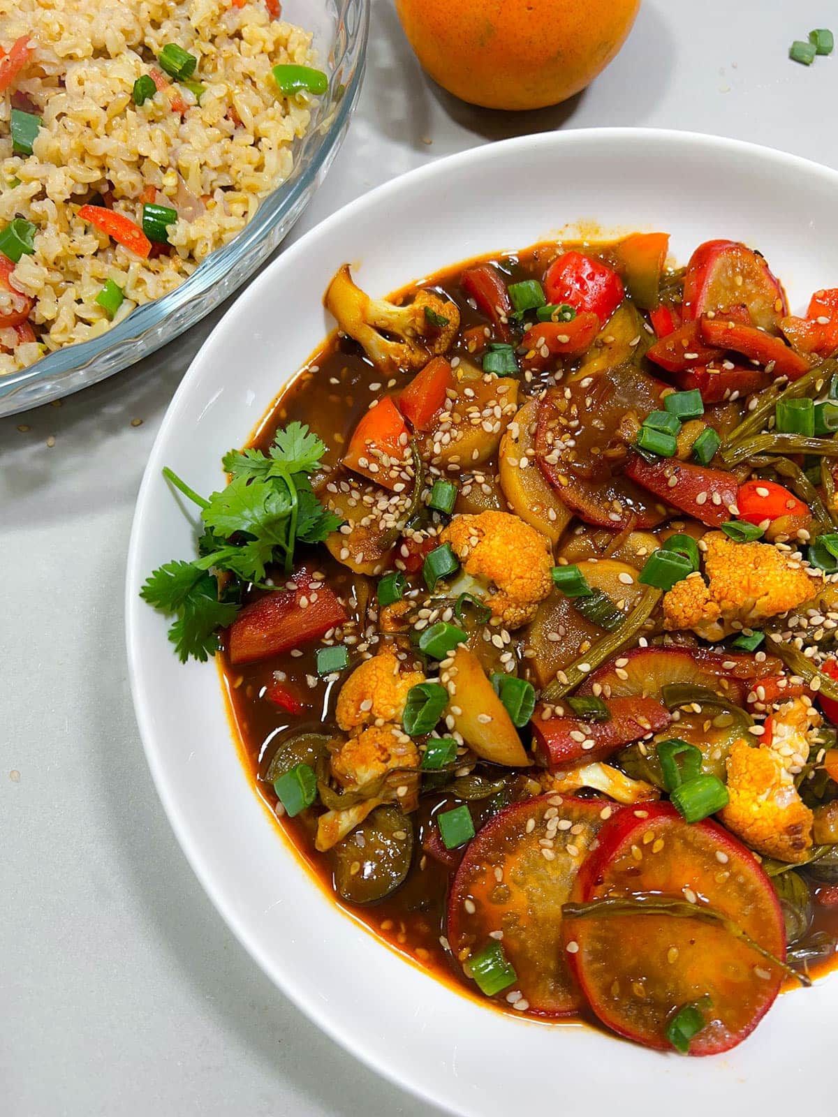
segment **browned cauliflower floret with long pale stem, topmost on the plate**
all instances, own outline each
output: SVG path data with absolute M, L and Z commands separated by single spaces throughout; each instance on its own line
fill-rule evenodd
M 370 298 L 353 281 L 349 264 L 328 285 L 324 303 L 341 330 L 363 345 L 366 355 L 385 369 L 418 371 L 431 356 L 450 349 L 459 331 L 459 311 L 450 299 L 420 290 L 412 303 L 397 306 L 384 298 Z M 384 331 L 400 338 L 382 336 Z

